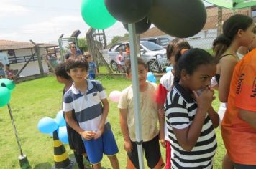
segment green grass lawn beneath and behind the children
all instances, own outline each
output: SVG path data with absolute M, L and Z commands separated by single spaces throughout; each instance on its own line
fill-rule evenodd
M 101 83 L 106 89 L 107 95 L 113 90 L 123 90 L 131 82 L 124 78 L 101 77 Z M 61 109 L 63 84 L 58 84 L 54 76 L 36 79 L 17 84 L 12 92 L 11 107 L 14 122 L 22 145 L 24 154 L 27 155 L 32 168 L 51 168 L 53 161 L 53 142 L 50 135 L 42 134 L 37 130 L 37 122 L 42 117 L 52 117 Z M 125 168 L 127 155 L 123 149 L 122 133 L 119 127 L 119 110 L 117 104 L 110 102 L 109 120 L 112 125 L 116 142 L 119 146 L 119 163 Z M 217 110 L 219 101 L 214 101 Z M 19 168 L 19 149 L 12 128 L 7 107 L 0 108 L 0 168 Z M 221 159 L 225 150 L 221 140 L 220 130 L 216 130 L 218 137 L 218 151 L 215 155 L 214 168 L 221 168 Z M 71 158 L 73 151 L 65 145 Z M 165 150 L 162 149 L 163 158 Z M 104 168 L 111 168 L 108 158 L 102 160 Z M 147 165 L 145 165 L 147 166 Z

